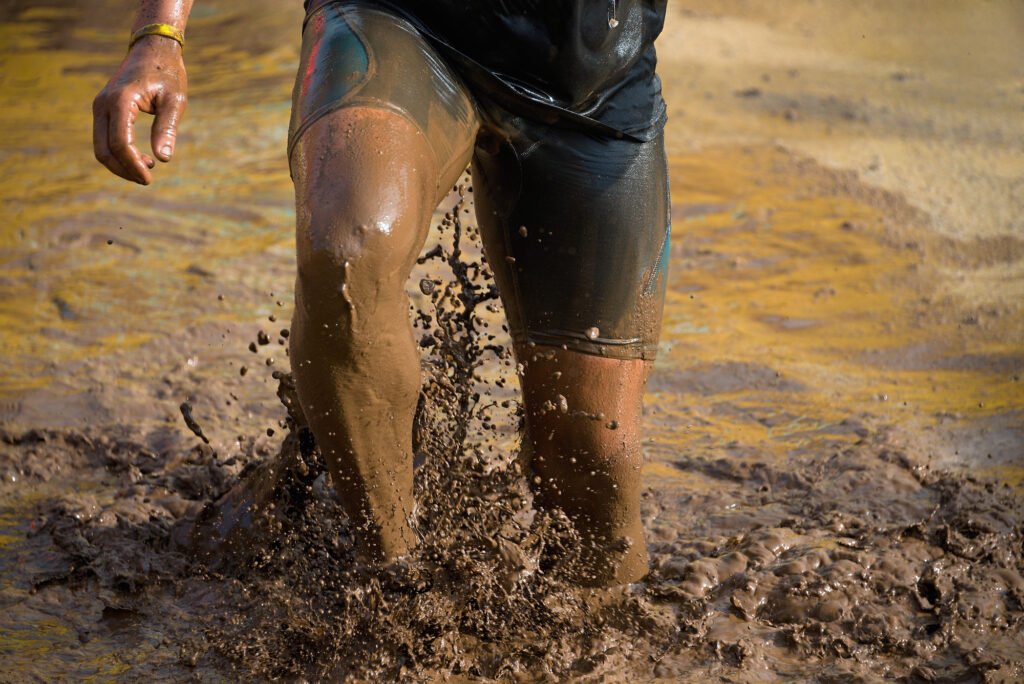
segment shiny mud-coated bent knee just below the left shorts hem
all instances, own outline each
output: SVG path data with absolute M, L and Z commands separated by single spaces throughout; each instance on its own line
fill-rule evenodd
M 347 282 L 400 289 L 426 239 L 436 183 L 417 127 L 386 110 L 344 108 L 303 133 L 298 149 L 300 286 L 332 296 Z

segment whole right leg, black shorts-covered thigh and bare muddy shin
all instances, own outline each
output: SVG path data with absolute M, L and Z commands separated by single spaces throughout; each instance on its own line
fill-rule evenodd
M 636 581 L 641 399 L 668 254 L 664 142 L 519 130 L 478 148 L 473 182 L 522 365 L 538 501 L 582 533 L 579 582 Z

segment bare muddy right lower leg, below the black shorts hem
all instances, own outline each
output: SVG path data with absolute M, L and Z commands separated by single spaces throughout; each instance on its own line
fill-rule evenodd
M 584 536 L 579 582 L 636 582 L 647 572 L 640 418 L 648 364 L 542 346 L 517 351 L 534 489 Z

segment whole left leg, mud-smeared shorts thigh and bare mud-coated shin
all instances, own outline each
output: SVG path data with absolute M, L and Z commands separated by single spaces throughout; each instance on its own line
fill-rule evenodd
M 358 552 L 392 559 L 415 544 L 421 377 L 404 285 L 441 188 L 469 161 L 476 119 L 424 41 L 384 12 L 326 7 L 307 22 L 303 55 L 335 68 L 296 85 L 292 367 Z

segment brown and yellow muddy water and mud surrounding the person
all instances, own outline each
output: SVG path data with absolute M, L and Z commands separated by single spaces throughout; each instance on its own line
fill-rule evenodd
M 0 9 L 3 678 L 1024 676 L 1019 4 L 675 3 L 653 572 L 600 598 L 544 560 L 571 532 L 530 512 L 493 354 L 474 391 L 497 407 L 420 471 L 431 558 L 353 566 L 323 480 L 263 557 L 172 544 L 245 467 L 298 453 L 271 374 L 300 11 L 197 8 L 181 142 L 141 188 L 89 145 L 130 4 Z M 423 268 L 429 309 L 416 284 L 449 271 Z

